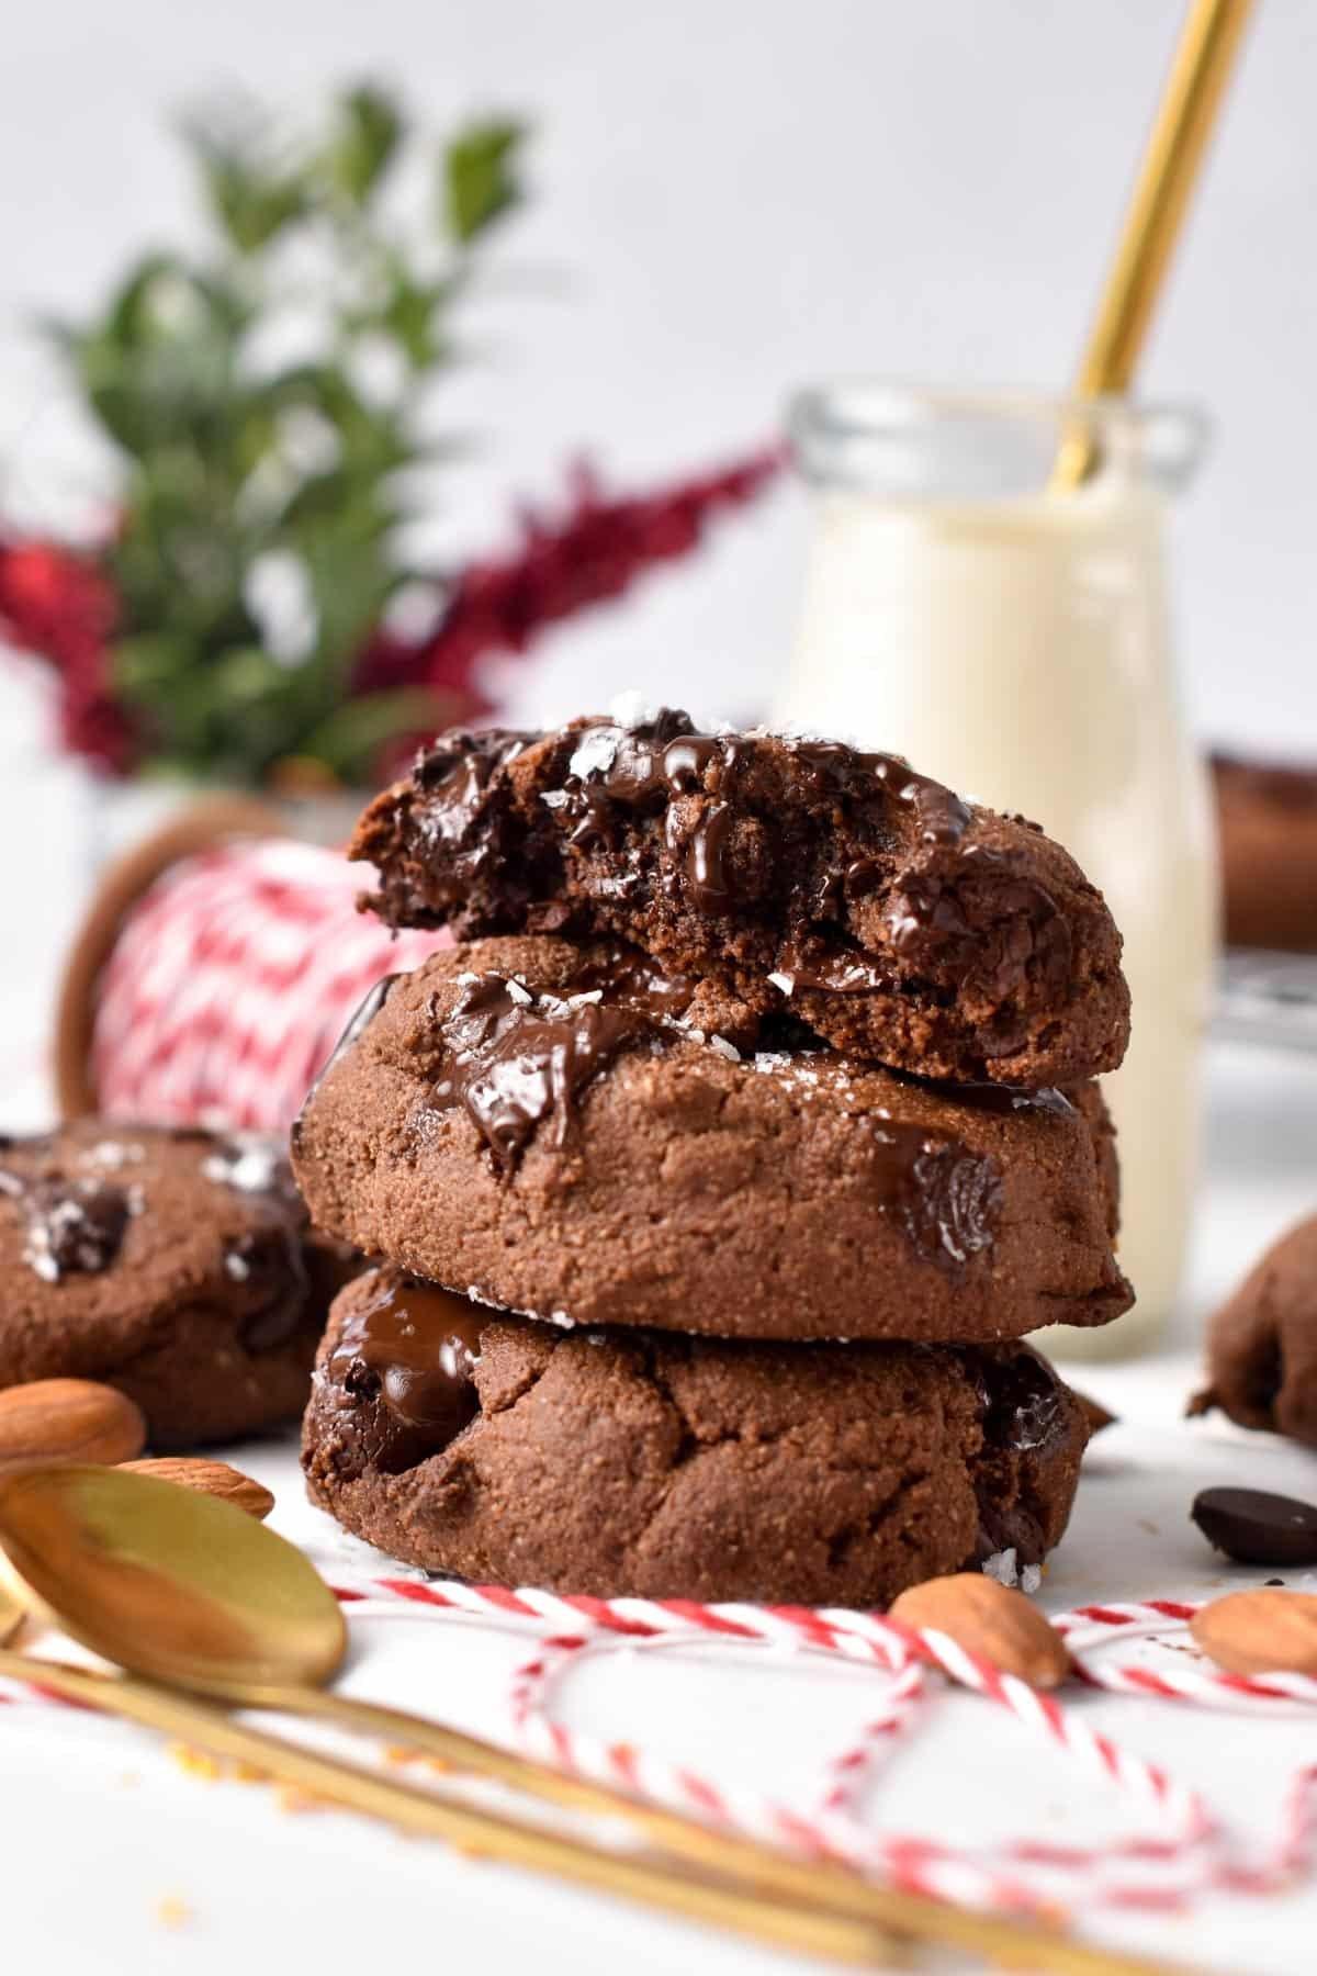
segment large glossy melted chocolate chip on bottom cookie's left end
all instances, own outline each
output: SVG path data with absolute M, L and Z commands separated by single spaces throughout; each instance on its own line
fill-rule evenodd
M 385 1474 L 442 1452 L 480 1413 L 480 1310 L 426 1282 L 391 1282 L 344 1326 L 330 1379 L 373 1419 L 369 1456 Z

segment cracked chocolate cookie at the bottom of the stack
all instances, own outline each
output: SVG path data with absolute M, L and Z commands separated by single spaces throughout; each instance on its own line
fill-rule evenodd
M 334 1304 L 302 1466 L 428 1571 L 877 1606 L 1011 1545 L 1039 1563 L 1086 1439 L 1027 1346 L 553 1330 L 381 1269 Z

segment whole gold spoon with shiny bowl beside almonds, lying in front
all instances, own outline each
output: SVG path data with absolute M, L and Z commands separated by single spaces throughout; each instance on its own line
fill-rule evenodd
M 115 1468 L 26 1470 L 0 1482 L 0 1545 L 73 1638 L 140 1676 L 332 1717 L 557 1804 L 622 1816 L 665 1852 L 738 1881 L 742 1897 L 768 1891 L 863 1923 L 871 1954 L 875 1931 L 894 1931 L 1074 1976 L 1151 1972 L 1048 1929 L 873 1887 L 843 1867 L 713 1832 L 438 1723 L 322 1693 L 308 1684 L 330 1680 L 346 1652 L 338 1601 L 294 1545 L 233 1504 Z

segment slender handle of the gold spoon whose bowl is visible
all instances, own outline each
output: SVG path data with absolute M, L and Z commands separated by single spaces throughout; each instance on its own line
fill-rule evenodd
M 667 1853 L 693 1861 L 701 1871 L 717 1871 L 748 1893 L 768 1891 L 778 1899 L 798 1899 L 815 1913 L 849 1915 L 855 1921 L 896 1935 L 958 1946 L 985 1958 L 1027 1960 L 1029 1968 L 1052 1976 L 1175 1976 L 1167 1966 L 1131 1962 L 1031 1923 L 981 1915 L 952 1907 L 898 1887 L 881 1887 L 849 1867 L 825 1859 L 792 1857 L 760 1840 L 719 1832 L 681 1812 L 644 1804 L 608 1784 L 569 1776 L 517 1751 L 500 1749 L 464 1729 L 389 1709 L 377 1701 L 357 1701 L 324 1688 L 272 1688 L 261 1693 L 261 1707 L 290 1715 L 312 1715 L 436 1757 L 444 1767 L 474 1776 L 492 1776 L 513 1790 L 606 1818 L 624 1818 L 634 1832 Z

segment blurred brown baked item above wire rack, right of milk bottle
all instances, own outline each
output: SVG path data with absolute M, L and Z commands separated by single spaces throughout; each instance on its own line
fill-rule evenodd
M 1317 952 L 1317 767 L 1212 757 L 1228 947 Z

